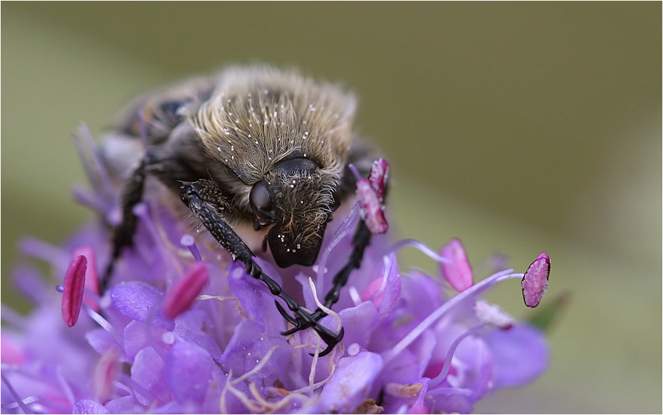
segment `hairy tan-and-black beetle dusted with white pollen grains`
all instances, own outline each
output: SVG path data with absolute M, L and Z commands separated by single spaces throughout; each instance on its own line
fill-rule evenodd
M 336 334 L 322 326 L 326 313 L 300 307 L 253 256 L 271 257 L 281 268 L 318 259 L 333 212 L 371 169 L 373 154 L 353 130 L 355 108 L 355 97 L 336 85 L 269 66 L 228 68 L 133 101 L 100 145 L 120 183 L 122 212 L 102 286 L 133 243 L 133 207 L 158 198 L 182 215 L 193 213 L 249 275 L 283 299 L 295 315 L 276 302 L 292 324 L 283 335 L 313 328 L 327 343 L 320 356 L 329 353 L 343 328 Z M 360 267 L 371 235 L 360 220 L 325 307 L 338 301 L 350 272 Z

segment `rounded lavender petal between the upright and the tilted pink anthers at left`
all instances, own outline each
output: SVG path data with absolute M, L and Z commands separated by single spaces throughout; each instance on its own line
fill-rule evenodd
M 145 282 L 118 284 L 110 291 L 110 298 L 117 310 L 130 319 L 144 323 L 153 318 L 151 323 L 168 330 L 172 330 L 174 326 L 172 320 L 155 309 L 161 303 L 163 293 Z

